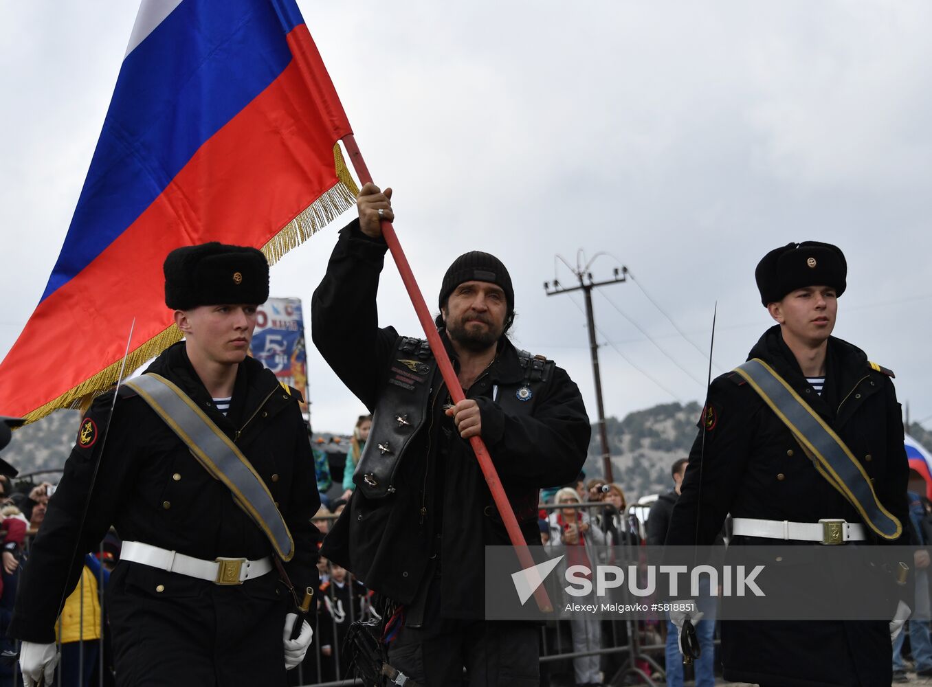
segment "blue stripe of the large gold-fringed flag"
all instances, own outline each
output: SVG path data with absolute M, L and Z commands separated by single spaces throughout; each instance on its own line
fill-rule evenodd
M 292 59 L 285 34 L 299 23 L 292 0 L 185 0 L 127 55 L 43 299 L 281 74 Z

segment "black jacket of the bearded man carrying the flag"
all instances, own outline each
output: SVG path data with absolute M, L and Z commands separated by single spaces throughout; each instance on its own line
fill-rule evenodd
M 311 307 L 314 343 L 370 410 L 388 383 L 399 339 L 394 328 L 379 329 L 377 323 L 385 251 L 384 240 L 365 237 L 358 221 L 345 227 Z M 493 402 L 496 386 L 501 399 L 514 395 L 523 378 L 514 346 L 502 337 L 495 361 L 466 395 L 479 404 L 482 437 L 513 506 L 527 503 L 530 494 L 529 511 L 518 508 L 517 515 L 527 542 L 540 545 L 537 489 L 566 484 L 579 474 L 591 428 L 576 384 L 559 367 L 535 393 L 530 415 L 508 414 Z M 431 384 L 426 429 L 402 455 L 396 491 L 370 500 L 357 488 L 324 539 L 322 553 L 352 570 L 370 589 L 400 603 L 412 601 L 429 557 L 439 555 L 442 613 L 481 618 L 484 546 L 507 545 L 509 539 L 472 448 L 444 415 L 448 401 L 439 372 Z

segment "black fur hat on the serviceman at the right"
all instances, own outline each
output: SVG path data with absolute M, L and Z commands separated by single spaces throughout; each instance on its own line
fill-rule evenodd
M 764 306 L 806 286 L 831 286 L 836 296 L 842 295 L 847 275 L 848 263 L 842 249 L 816 240 L 774 248 L 754 270 Z

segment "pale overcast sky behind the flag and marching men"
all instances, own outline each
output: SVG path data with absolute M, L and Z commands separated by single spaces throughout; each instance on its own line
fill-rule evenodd
M 582 296 L 543 291 L 572 280 L 555 255 L 605 252 L 596 280 L 634 275 L 593 295 L 605 409 L 623 417 L 701 399 L 716 301 L 714 372 L 744 361 L 770 323 L 757 261 L 822 240 L 848 260 L 836 336 L 895 370 L 932 425 L 929 3 L 299 5 L 369 169 L 395 188 L 428 304 L 457 255 L 497 254 L 515 343 L 567 368 L 593 419 Z M 0 356 L 58 256 L 137 7 L 0 3 Z M 285 256 L 272 295 L 309 307 L 351 216 Z M 391 261 L 378 307 L 418 334 Z M 308 364 L 315 429 L 349 432 L 363 406 L 313 348 Z

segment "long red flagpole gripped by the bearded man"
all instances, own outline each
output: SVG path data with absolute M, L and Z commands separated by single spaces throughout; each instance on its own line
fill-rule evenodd
M 342 141 L 347 149 L 349 161 L 352 162 L 353 169 L 356 170 L 356 175 L 359 176 L 360 183 L 363 185 L 371 184 L 372 175 L 365 166 L 365 160 L 363 160 L 363 154 L 360 153 L 359 146 L 356 144 L 356 139 L 349 133 L 343 137 Z M 382 236 L 389 245 L 391 257 L 394 258 L 395 265 L 398 267 L 398 271 L 401 274 L 404 288 L 407 289 L 415 312 L 418 313 L 420 326 L 427 336 L 428 343 L 431 344 L 433 357 L 437 361 L 440 367 L 440 374 L 443 376 L 446 383 L 446 390 L 450 393 L 450 398 L 453 399 L 453 403 L 458 404 L 460 401 L 465 400 L 466 395 L 459 385 L 457 373 L 453 370 L 453 364 L 450 363 L 450 358 L 446 354 L 444 344 L 440 340 L 440 334 L 437 332 L 437 327 L 433 323 L 431 311 L 427 308 L 427 303 L 424 302 L 424 296 L 420 293 L 418 282 L 414 278 L 414 272 L 411 271 L 411 266 L 408 265 L 407 257 L 404 255 L 402 245 L 398 240 L 398 236 L 395 234 L 394 227 L 391 226 L 391 222 L 387 219 L 382 220 L 381 227 Z M 531 557 L 528 543 L 525 542 L 524 536 L 521 534 L 521 529 L 518 527 L 517 518 L 514 517 L 514 511 L 512 510 L 511 503 L 508 501 L 508 496 L 505 494 L 505 489 L 501 486 L 499 474 L 492 464 L 492 457 L 488 454 L 486 443 L 479 436 L 471 436 L 469 441 L 470 446 L 473 447 L 475 458 L 479 461 L 479 467 L 482 468 L 482 474 L 486 477 L 488 490 L 492 492 L 492 499 L 495 501 L 496 508 L 499 509 L 501 521 L 505 524 L 505 529 L 508 531 L 508 538 L 514 546 L 514 550 L 518 555 L 518 560 L 521 562 L 521 567 L 525 569 L 531 568 L 535 565 L 534 559 Z M 547 596 L 547 590 L 542 584 L 534 591 L 534 598 L 541 611 L 553 610 L 550 598 Z

